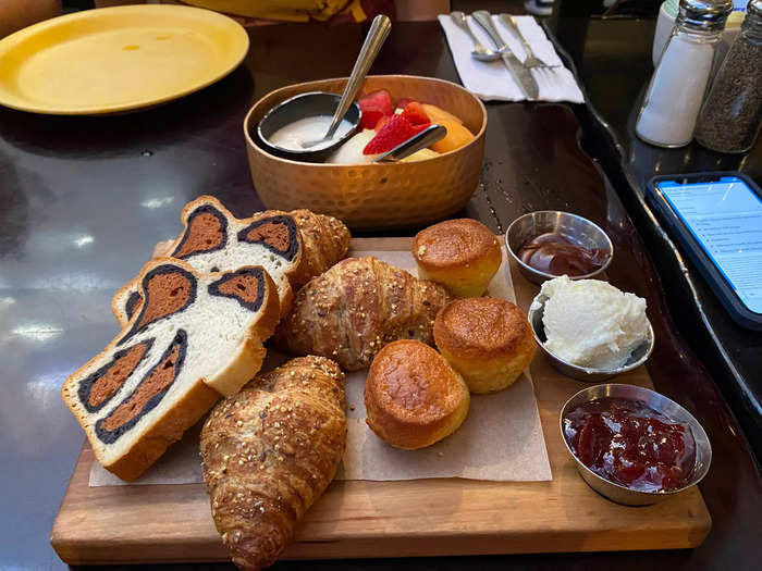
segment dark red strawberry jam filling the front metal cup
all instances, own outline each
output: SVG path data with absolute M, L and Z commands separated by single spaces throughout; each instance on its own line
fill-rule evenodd
M 580 405 L 564 418 L 564 436 L 590 470 L 639 492 L 678 489 L 696 463 L 690 426 L 642 400 L 606 397 Z

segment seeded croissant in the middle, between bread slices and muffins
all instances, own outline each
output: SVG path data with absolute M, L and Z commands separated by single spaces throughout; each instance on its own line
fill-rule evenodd
M 357 371 L 393 340 L 432 345 L 434 318 L 448 300 L 441 285 L 377 258 L 347 258 L 299 290 L 278 343 L 294 355 L 321 355 Z

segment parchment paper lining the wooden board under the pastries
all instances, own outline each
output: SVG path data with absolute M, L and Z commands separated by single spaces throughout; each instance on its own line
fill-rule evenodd
M 416 275 L 407 251 L 353 251 L 376 256 Z M 516 301 L 506 252 L 488 295 Z M 284 356 L 272 353 L 266 369 Z M 468 418 L 453 435 L 420 450 L 398 450 L 378 438 L 365 423 L 362 404 L 366 371 L 346 377 L 347 445 L 337 480 L 418 480 L 466 477 L 492 481 L 548 481 L 552 479 L 542 436 L 537 399 L 526 371 L 511 387 L 493 395 L 471 395 Z M 189 430 L 137 482 L 188 484 L 202 482 L 198 435 L 200 423 Z M 125 485 L 98 462 L 90 470 L 90 486 Z

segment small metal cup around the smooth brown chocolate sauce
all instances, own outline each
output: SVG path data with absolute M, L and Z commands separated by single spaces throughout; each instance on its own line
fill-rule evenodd
M 521 274 L 536 284 L 542 284 L 557 275 L 541 272 L 524 263 L 518 257 L 518 251 L 529 239 L 545 233 L 563 234 L 570 240 L 590 250 L 604 251 L 603 264 L 585 275 L 569 276 L 570 280 L 589 280 L 603 273 L 614 258 L 614 245 L 603 229 L 582 216 L 562 212 L 560 210 L 539 210 L 530 212 L 514 220 L 505 233 L 505 246 L 511 257 L 518 264 Z

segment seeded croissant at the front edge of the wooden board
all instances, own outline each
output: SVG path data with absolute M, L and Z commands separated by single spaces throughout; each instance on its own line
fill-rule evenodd
M 333 480 L 344 454 L 344 374 L 293 359 L 221 401 L 201 431 L 211 513 L 233 562 L 272 564 Z

